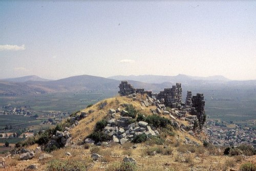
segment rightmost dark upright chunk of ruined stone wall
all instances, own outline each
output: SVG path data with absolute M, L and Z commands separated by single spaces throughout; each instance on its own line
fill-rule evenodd
M 196 115 L 199 120 L 200 129 L 205 122 L 205 111 L 204 111 L 204 94 L 197 93 L 196 96 L 192 97 L 192 108 L 190 108 L 190 114 Z

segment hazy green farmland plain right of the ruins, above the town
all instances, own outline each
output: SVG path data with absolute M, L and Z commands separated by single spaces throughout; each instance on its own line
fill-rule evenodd
M 196 88 L 196 89 L 195 89 Z M 183 88 L 185 98 L 188 87 Z M 200 86 L 190 89 L 193 95 L 202 92 L 205 98 L 205 113 L 208 119 L 221 121 L 249 121 L 256 119 L 255 87 Z

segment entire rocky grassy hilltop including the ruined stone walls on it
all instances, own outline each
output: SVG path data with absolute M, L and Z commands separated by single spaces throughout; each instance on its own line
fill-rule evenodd
M 246 170 L 256 151 L 216 147 L 204 133 L 203 94 L 181 84 L 159 93 L 119 84 L 120 96 L 73 113 L 53 129 L 16 144 L 6 170 Z

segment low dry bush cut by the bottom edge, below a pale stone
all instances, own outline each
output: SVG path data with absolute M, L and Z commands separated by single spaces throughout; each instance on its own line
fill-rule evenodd
M 115 162 L 106 168 L 106 171 L 135 171 L 137 167 L 130 162 Z

